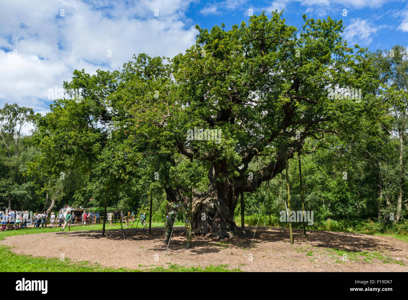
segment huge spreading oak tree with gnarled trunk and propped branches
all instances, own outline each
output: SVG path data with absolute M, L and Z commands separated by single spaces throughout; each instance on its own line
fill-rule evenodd
M 120 156 L 118 182 L 139 176 L 171 202 L 192 195 L 194 233 L 223 238 L 240 231 L 239 194 L 281 173 L 285 156 L 359 129 L 375 109 L 366 93 L 375 84 L 372 57 L 349 48 L 341 21 L 330 18 L 304 16 L 296 28 L 275 12 L 230 30 L 197 30 L 195 45 L 167 61 L 140 54 L 120 71 L 75 71 L 66 87 L 82 88 L 83 100 L 51 107 L 44 124 L 52 133 L 42 132 L 54 153 L 43 161 L 91 178 L 100 160 Z M 361 99 L 330 97 L 328 89 L 342 88 L 361 89 Z M 188 139 L 195 127 L 221 130 L 221 140 Z M 112 154 L 102 156 L 107 145 Z M 257 157 L 262 164 L 249 173 Z

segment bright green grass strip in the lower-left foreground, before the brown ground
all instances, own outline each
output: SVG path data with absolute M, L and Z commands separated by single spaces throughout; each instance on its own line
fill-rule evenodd
M 207 267 L 184 267 L 179 264 L 169 264 L 168 268 L 154 267 L 149 269 L 108 268 L 98 263 L 87 261 L 73 262 L 69 258 L 33 257 L 16 254 L 10 247 L 0 246 L 1 272 L 241 272 L 240 269 L 228 270 L 228 265 L 210 265 Z M 144 267 L 139 265 L 138 267 Z

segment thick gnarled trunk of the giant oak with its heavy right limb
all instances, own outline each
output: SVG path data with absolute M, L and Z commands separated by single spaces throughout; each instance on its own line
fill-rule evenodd
M 247 233 L 237 227 L 234 220 L 234 211 L 237 207 L 241 192 L 257 190 L 262 182 L 275 178 L 285 169 L 285 156 L 293 158 L 293 153 L 303 147 L 304 140 L 293 142 L 286 151 L 282 149 L 275 155 L 275 160 L 253 173 L 245 175 L 245 167 L 240 170 L 238 178 L 231 179 L 225 162 L 218 160 L 212 162 L 208 170 L 210 180 L 208 191 L 204 193 L 193 192 L 193 233 L 204 234 L 215 238 L 230 238 Z M 285 154 L 286 152 L 286 154 Z M 166 187 L 169 202 L 184 202 L 188 206 L 188 197 L 183 195 L 182 187 Z M 285 202 L 286 205 L 286 202 Z

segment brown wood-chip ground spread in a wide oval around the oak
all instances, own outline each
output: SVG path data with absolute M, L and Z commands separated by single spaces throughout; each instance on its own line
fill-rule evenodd
M 305 238 L 302 230 L 295 229 L 295 244 L 290 246 L 287 229 L 282 238 L 280 235 L 279 228 L 261 227 L 252 248 L 249 247 L 253 231 L 236 240 L 193 236 L 193 249 L 186 249 L 183 229 L 176 227 L 167 256 L 164 228 L 152 228 L 151 236 L 147 229 L 137 229 L 133 240 L 123 240 L 120 230 L 108 230 L 104 238 L 101 231 L 71 231 L 62 236 L 59 233 L 10 236 L 0 244 L 16 246 L 11 251 L 20 254 L 58 258 L 64 254 L 75 261 L 130 269 L 223 264 L 228 265 L 227 269 L 242 271 L 408 271 L 408 243 L 402 240 L 359 233 L 351 233 L 349 240 L 345 233 L 329 231 L 308 231 Z

